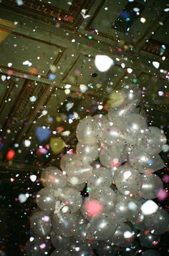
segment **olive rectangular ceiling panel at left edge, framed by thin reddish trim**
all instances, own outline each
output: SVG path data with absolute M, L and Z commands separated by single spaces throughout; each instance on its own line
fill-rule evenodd
M 49 66 L 56 65 L 59 57 L 62 56 L 64 48 L 57 44 L 26 37 L 24 34 L 7 29 L 4 31 L 0 28 L 1 32 L 6 33 L 6 39 L 0 45 L 0 67 L 47 77 Z

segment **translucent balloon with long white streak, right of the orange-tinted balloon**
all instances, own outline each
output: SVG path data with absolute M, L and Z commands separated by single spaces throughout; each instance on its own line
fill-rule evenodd
M 61 167 L 66 171 L 67 181 L 72 185 L 82 184 L 92 175 L 92 166 L 77 158 L 76 155 L 65 155 L 63 158 Z

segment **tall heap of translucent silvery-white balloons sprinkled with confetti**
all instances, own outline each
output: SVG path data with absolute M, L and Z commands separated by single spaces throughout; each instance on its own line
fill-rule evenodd
M 154 173 L 164 167 L 166 138 L 137 112 L 140 96 L 137 85 L 115 92 L 107 115 L 80 120 L 76 153 L 62 157 L 62 171 L 43 171 L 26 255 L 48 255 L 50 242 L 52 256 L 117 255 L 140 245 L 150 249 L 143 255 L 159 255 L 153 249 L 169 217 L 152 199 L 163 192 Z

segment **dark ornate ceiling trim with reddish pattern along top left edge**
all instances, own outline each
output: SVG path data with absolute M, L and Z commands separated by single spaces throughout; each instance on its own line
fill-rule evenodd
M 5 0 L 1 6 L 9 10 L 10 4 L 10 11 L 28 15 L 26 10 L 29 11 L 29 16 L 37 21 L 75 32 L 83 22 L 83 17 L 79 16 L 81 10 L 89 11 L 94 2 L 95 0 L 74 0 L 68 12 L 37 0 L 25 0 L 22 6 L 17 6 L 15 0 Z

